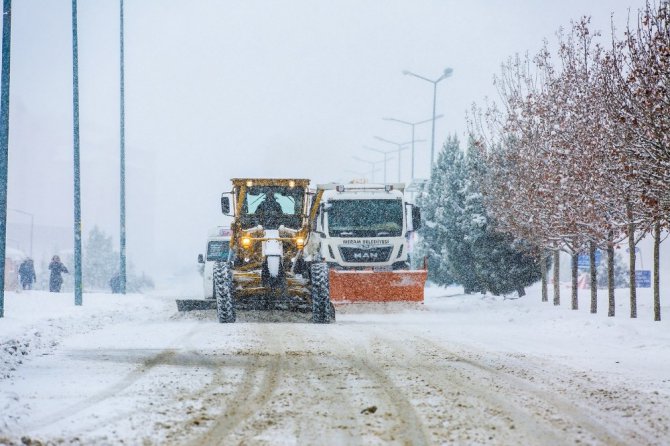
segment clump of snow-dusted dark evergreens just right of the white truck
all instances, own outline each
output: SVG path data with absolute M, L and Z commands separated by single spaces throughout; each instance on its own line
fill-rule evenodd
M 429 277 L 463 285 L 466 293 L 523 295 L 540 278 L 539 257 L 523 241 L 495 230 L 480 190 L 485 169 L 473 144 L 464 156 L 456 137 L 447 140 L 420 201 Z

